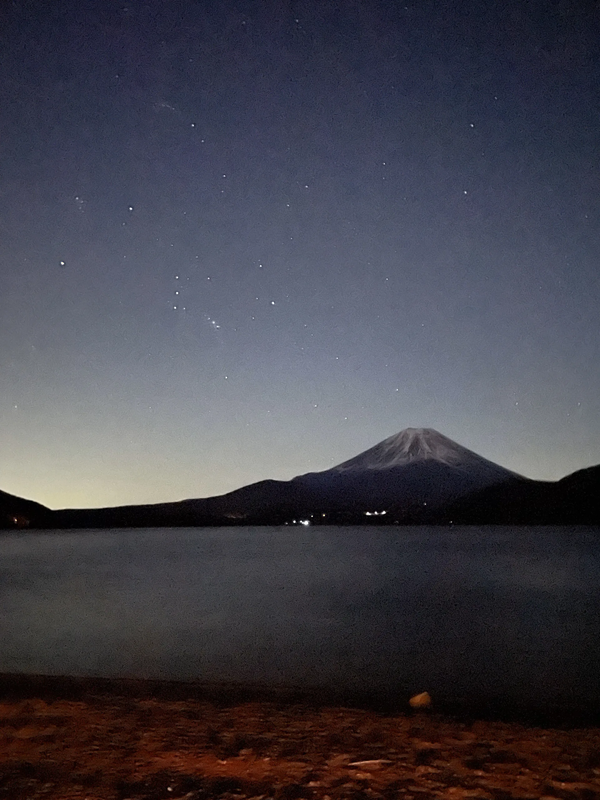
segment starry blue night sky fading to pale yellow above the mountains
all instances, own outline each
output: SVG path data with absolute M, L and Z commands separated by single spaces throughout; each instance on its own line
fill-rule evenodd
M 2 490 L 221 494 L 407 426 L 600 462 L 600 7 L 6 0 L 0 31 Z

